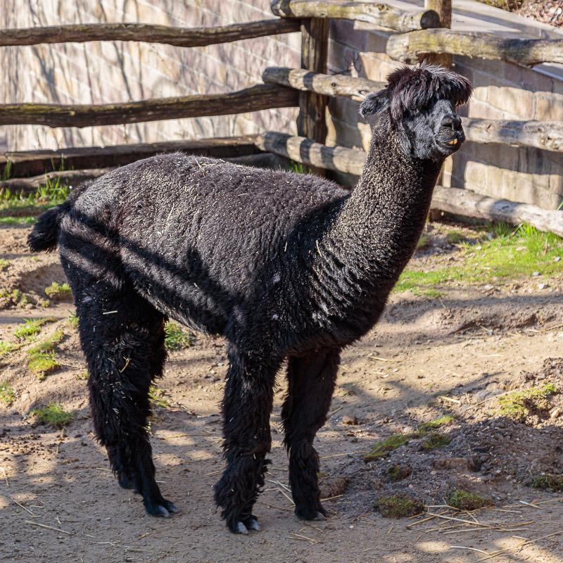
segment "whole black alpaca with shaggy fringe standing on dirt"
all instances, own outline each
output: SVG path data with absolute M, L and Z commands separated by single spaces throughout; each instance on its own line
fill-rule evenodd
M 39 218 L 29 244 L 60 246 L 94 429 L 120 485 L 141 493 L 149 514 L 176 511 L 156 484 L 146 432 L 167 317 L 227 339 L 227 468 L 215 500 L 229 529 L 258 529 L 252 509 L 285 358 L 296 514 L 326 514 L 312 443 L 341 349 L 377 322 L 415 250 L 443 160 L 464 140 L 455 106 L 470 93 L 467 80 L 437 66 L 393 72 L 362 103 L 373 140 L 351 193 L 313 175 L 168 154 L 114 170 Z

